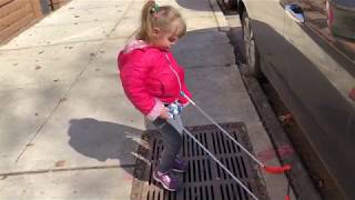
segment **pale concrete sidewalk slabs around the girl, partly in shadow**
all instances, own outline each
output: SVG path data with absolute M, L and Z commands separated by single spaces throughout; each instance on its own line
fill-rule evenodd
M 144 1 L 72 0 L 0 47 L 0 199 L 130 199 L 148 121 L 125 99 L 116 53 Z M 174 48 L 196 103 L 217 122 L 244 122 L 255 154 L 278 164 L 243 86 L 214 0 L 164 0 L 185 17 Z M 186 126 L 209 124 L 186 108 Z M 263 173 L 262 173 L 263 174 Z M 283 176 L 265 176 L 271 199 Z

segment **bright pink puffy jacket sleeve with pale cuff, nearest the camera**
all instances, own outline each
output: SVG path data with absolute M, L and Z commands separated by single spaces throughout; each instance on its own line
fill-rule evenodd
M 120 70 L 122 87 L 133 106 L 150 120 L 160 116 L 163 103 L 151 96 L 145 88 L 144 80 L 150 67 L 144 61 L 126 62 Z

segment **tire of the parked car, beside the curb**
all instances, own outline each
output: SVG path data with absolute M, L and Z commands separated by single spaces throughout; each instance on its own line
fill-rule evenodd
M 241 21 L 247 74 L 253 76 L 255 78 L 262 78 L 260 53 L 256 48 L 254 32 L 251 28 L 250 18 L 245 10 L 242 12 Z

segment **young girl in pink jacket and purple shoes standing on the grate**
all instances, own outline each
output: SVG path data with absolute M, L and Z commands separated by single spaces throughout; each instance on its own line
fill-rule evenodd
M 176 9 L 149 1 L 142 9 L 136 40 L 128 43 L 118 58 L 126 97 L 162 133 L 164 150 L 153 178 L 170 191 L 175 191 L 179 184 L 171 171 L 184 172 L 187 166 L 176 154 L 182 147 L 180 111 L 189 103 L 181 92 L 187 97 L 191 93 L 184 70 L 170 51 L 185 32 L 186 24 Z M 172 114 L 171 108 L 178 112 Z

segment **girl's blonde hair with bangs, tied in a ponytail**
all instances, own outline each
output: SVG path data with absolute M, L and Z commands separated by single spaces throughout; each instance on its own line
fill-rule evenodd
M 141 28 L 135 36 L 139 40 L 150 41 L 153 29 L 173 32 L 179 38 L 186 33 L 186 23 L 180 12 L 171 6 L 158 7 L 155 1 L 148 1 L 142 9 Z

